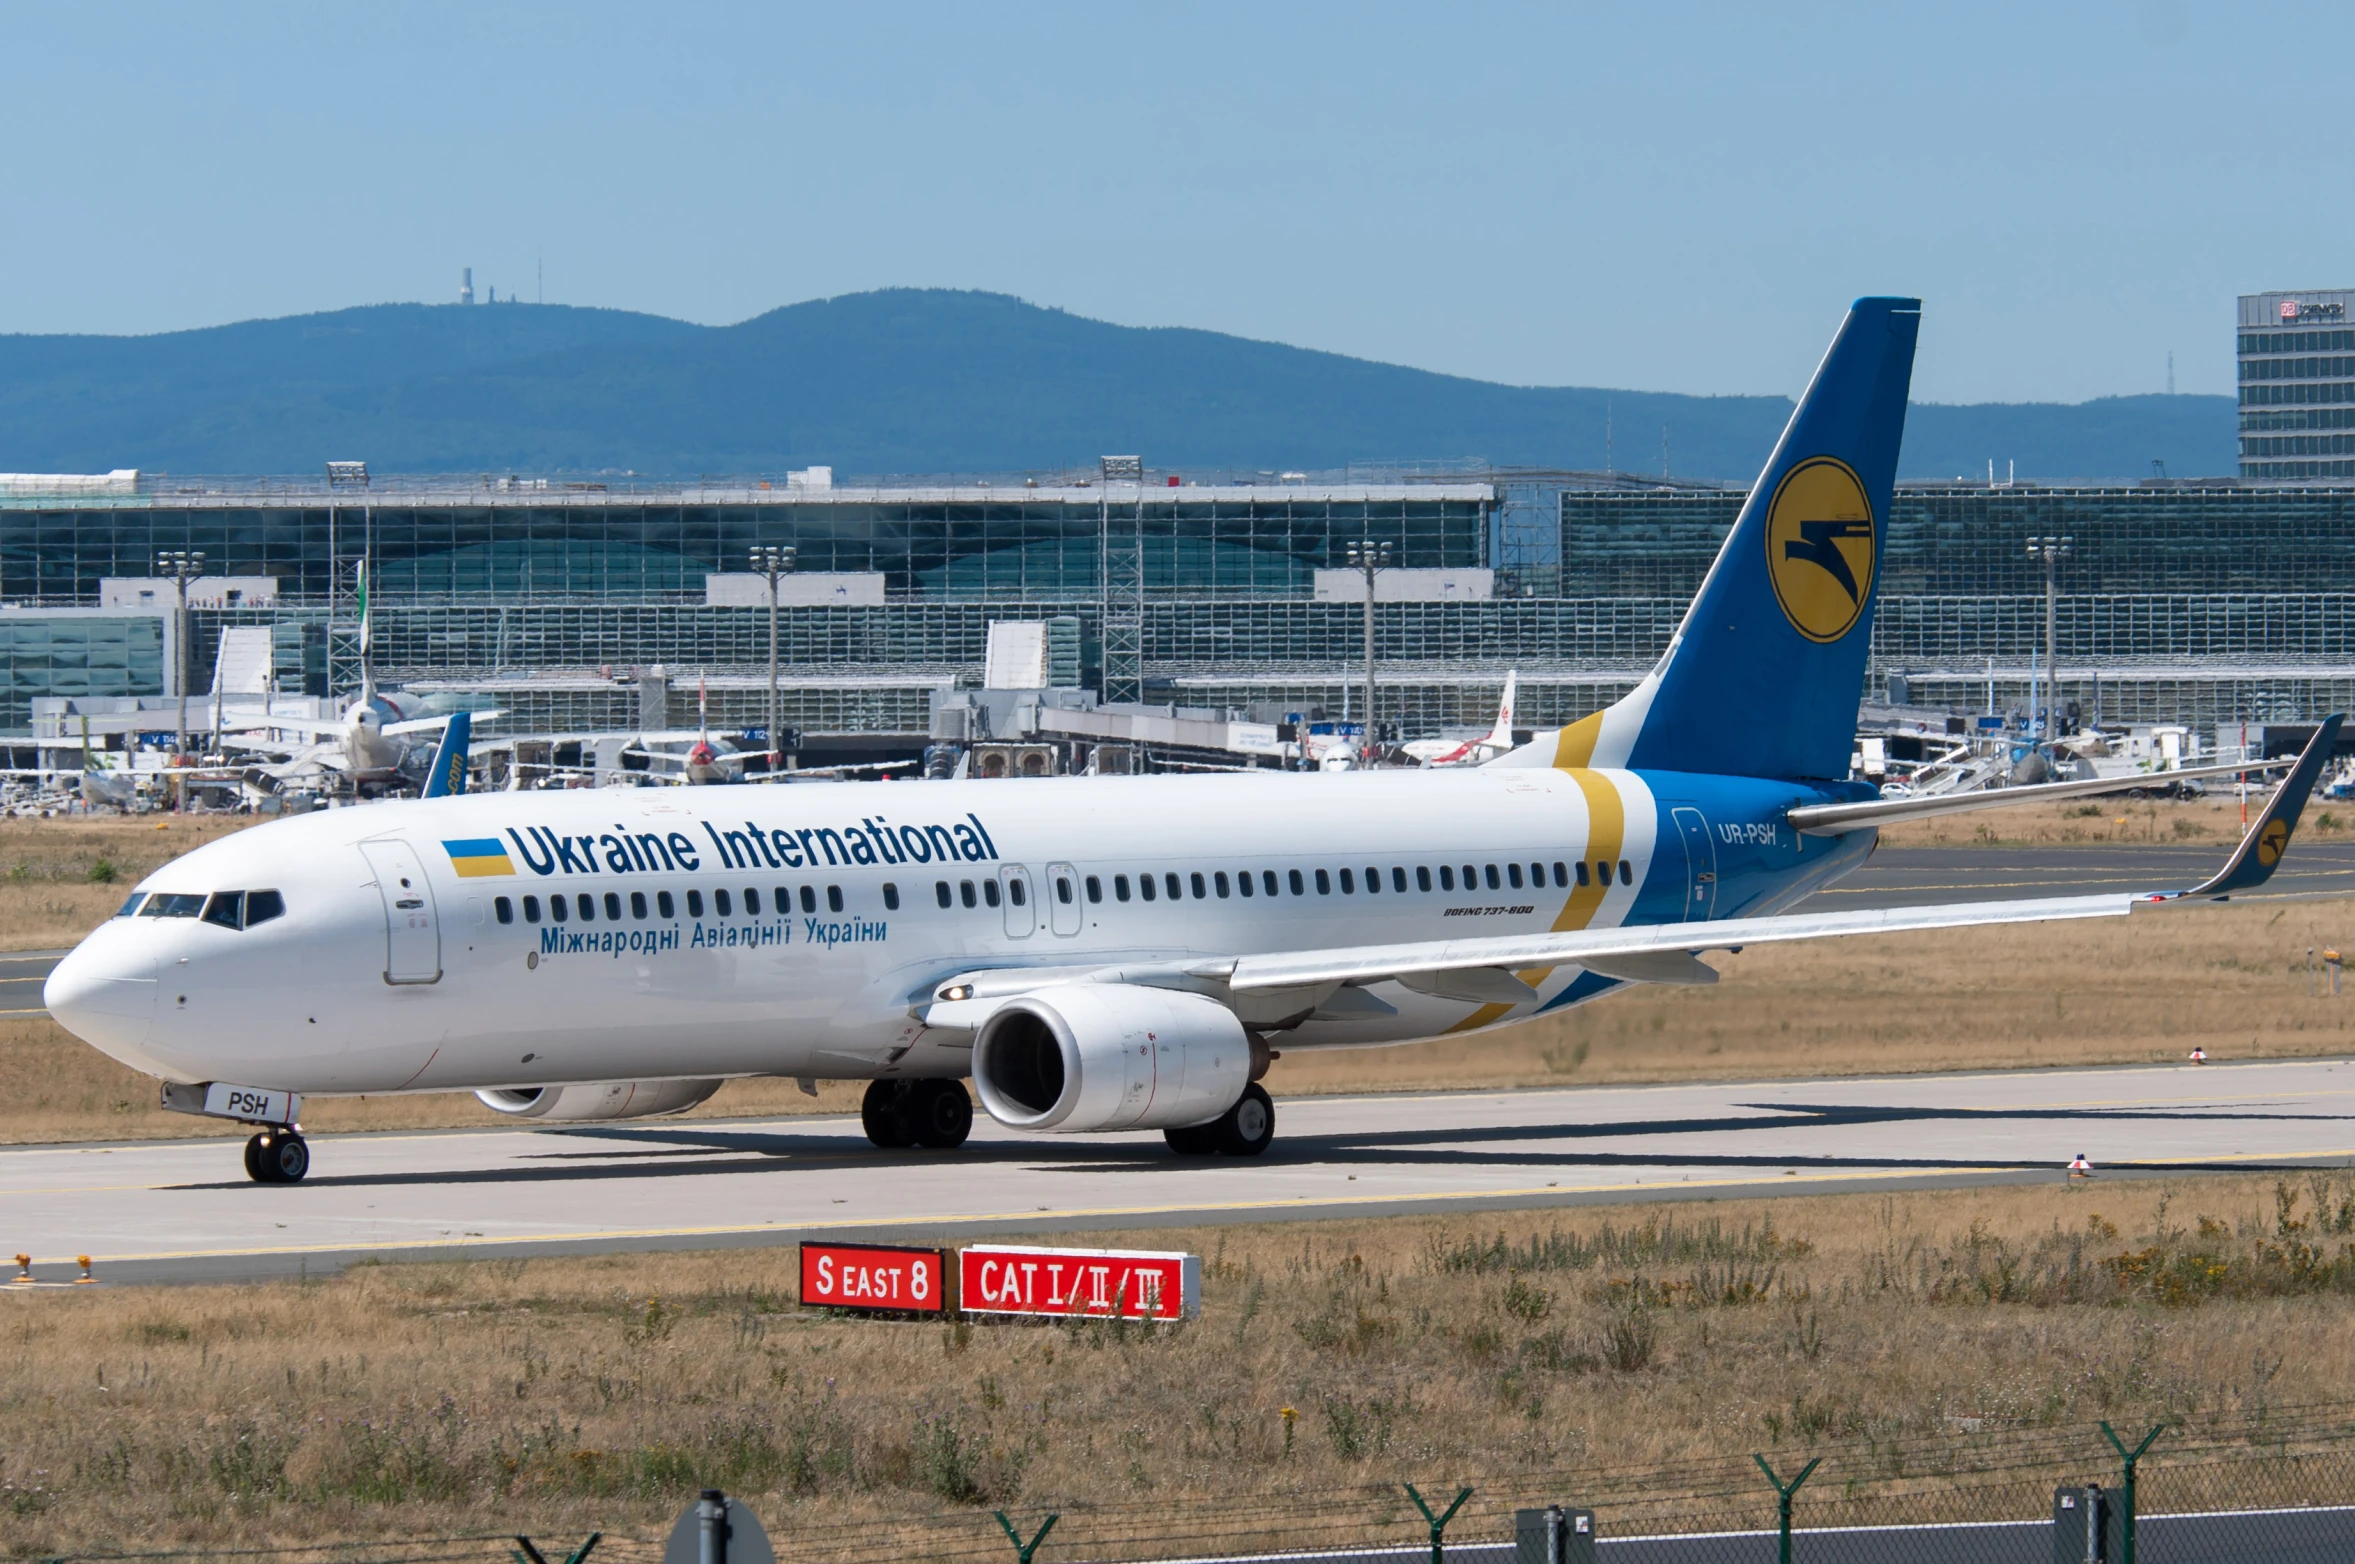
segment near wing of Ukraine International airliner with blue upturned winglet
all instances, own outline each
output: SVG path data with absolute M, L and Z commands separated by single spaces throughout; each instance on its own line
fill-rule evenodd
M 1036 970 L 980 970 L 935 985 L 930 1003 L 918 1006 L 928 1025 L 977 1025 L 996 1001 L 1024 987 L 1053 982 L 1142 982 L 1149 987 L 1213 985 L 1229 992 L 1312 989 L 1397 980 L 1425 994 L 1474 1003 L 1531 1003 L 1543 980 L 1557 966 L 1580 966 L 1604 978 L 1627 982 L 1717 982 L 1717 973 L 1698 961 L 1705 949 L 1745 949 L 1750 945 L 1792 945 L 1842 935 L 1889 935 L 1926 928 L 1983 928 L 1995 923 L 2056 923 L 2072 919 L 2122 919 L 2141 907 L 2225 900 L 2273 879 L 2298 813 L 2322 775 L 2336 742 L 2341 716 L 2322 723 L 2306 744 L 2289 777 L 2249 822 L 2233 857 L 2207 881 L 2185 890 L 2148 890 L 2136 895 L 2058 895 L 2016 902 L 1955 902 L 1943 907 L 1886 907 L 1875 912 L 1816 912 L 1766 919 L 1717 919 L 1705 923 L 1641 923 L 1627 928 L 1587 928 L 1573 933 L 1495 935 L 1470 940 L 1420 940 L 1411 945 L 1356 945 L 1335 949 L 1272 952 L 1265 956 L 1220 956 L 1182 961 L 1161 968 L 1100 968 L 1074 975 Z M 1533 970 L 1545 968 L 1545 970 Z M 1524 978 L 1521 973 L 1528 973 Z M 1192 982 L 1189 982 L 1192 980 Z

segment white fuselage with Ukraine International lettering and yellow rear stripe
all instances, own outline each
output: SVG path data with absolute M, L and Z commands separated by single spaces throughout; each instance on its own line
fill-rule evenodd
M 973 1034 L 911 1015 L 956 973 L 1606 928 L 1646 895 L 1658 817 L 1634 773 L 1498 768 L 377 803 L 158 869 L 141 893 L 276 890 L 285 914 L 111 919 L 47 999 L 148 1074 L 301 1093 L 958 1076 Z M 1578 860 L 1608 883 L 1557 886 Z M 1573 978 L 1531 975 L 1519 1008 L 1385 982 L 1272 1025 L 1283 1048 L 1406 1041 Z

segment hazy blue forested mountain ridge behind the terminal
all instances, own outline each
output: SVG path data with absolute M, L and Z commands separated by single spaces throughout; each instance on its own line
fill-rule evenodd
M 841 476 L 1500 466 L 1745 481 L 1780 396 L 1500 386 L 984 292 L 883 290 L 706 327 L 553 304 L 372 304 L 158 337 L 0 337 L 0 471 Z M 2237 471 L 2233 398 L 1915 405 L 1900 476 Z

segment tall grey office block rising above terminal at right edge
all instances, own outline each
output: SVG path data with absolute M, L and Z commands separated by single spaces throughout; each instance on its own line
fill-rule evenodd
M 2355 292 L 2242 294 L 2242 478 L 2355 478 L 2350 304 Z

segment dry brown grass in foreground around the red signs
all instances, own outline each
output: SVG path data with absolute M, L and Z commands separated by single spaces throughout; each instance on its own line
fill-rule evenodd
M 2355 1399 L 2350 1230 L 2355 1180 L 2313 1175 L 1104 1239 L 1206 1258 L 1175 1328 L 801 1312 L 782 1248 L 0 1288 L 0 1531 L 643 1538 L 711 1484 L 772 1536 L 954 1515 L 989 1543 L 991 1505 L 2091 1444 Z

